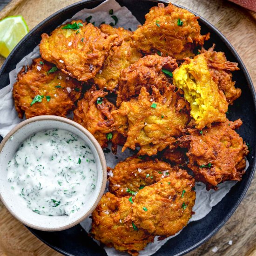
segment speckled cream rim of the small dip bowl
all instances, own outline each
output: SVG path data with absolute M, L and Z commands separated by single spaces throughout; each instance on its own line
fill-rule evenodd
M 13 136 L 18 130 L 20 130 L 20 128 L 23 128 L 25 126 L 27 126 L 27 128 L 29 128 L 29 125 L 31 123 L 38 122 L 38 121 L 57 121 L 57 122 L 62 122 L 62 123 L 65 123 L 65 124 L 67 124 L 69 126 L 73 126 L 74 128 L 77 128 L 86 137 L 88 137 L 88 139 L 92 142 L 94 148 L 96 149 L 97 154 L 99 155 L 99 160 L 100 160 L 99 164 L 101 165 L 101 168 L 102 168 L 102 171 L 101 171 L 102 172 L 102 182 L 101 182 L 101 188 L 100 188 L 99 194 L 97 195 L 97 198 L 96 198 L 94 204 L 92 205 L 92 207 L 90 209 L 88 209 L 83 214 L 83 216 L 81 216 L 78 219 L 74 218 L 74 221 L 72 221 L 71 223 L 62 225 L 62 226 L 60 226 L 58 228 L 48 228 L 48 227 L 44 228 L 43 226 L 37 226 L 37 225 L 30 224 L 26 220 L 21 219 L 19 215 L 15 214 L 13 212 L 13 210 L 9 207 L 8 200 L 6 200 L 1 195 L 1 193 L 0 193 L 0 201 L 4 204 L 4 206 L 8 209 L 8 211 L 17 220 L 19 220 L 24 225 L 26 225 L 26 226 L 28 226 L 30 228 L 37 229 L 37 230 L 42 230 L 42 231 L 61 231 L 61 230 L 72 228 L 75 225 L 79 224 L 84 219 L 86 219 L 93 212 L 93 210 L 96 208 L 96 206 L 98 205 L 98 203 L 101 200 L 102 195 L 104 194 L 104 191 L 105 191 L 105 188 L 106 188 L 106 185 L 107 185 L 107 164 L 106 164 L 106 160 L 105 160 L 105 156 L 104 156 L 103 150 L 102 150 L 99 142 L 94 138 L 94 136 L 86 128 L 84 128 L 79 123 L 76 123 L 75 121 L 72 121 L 72 120 L 70 120 L 68 118 L 61 117 L 61 116 L 55 116 L 55 115 L 38 115 L 38 116 L 29 118 L 29 119 L 26 119 L 25 121 L 20 122 L 1 141 L 1 143 L 0 143 L 0 154 L 2 153 L 2 149 L 5 147 L 6 142 L 10 139 L 11 136 Z

